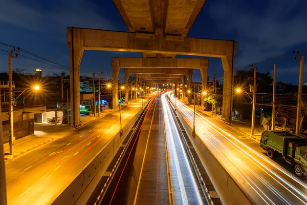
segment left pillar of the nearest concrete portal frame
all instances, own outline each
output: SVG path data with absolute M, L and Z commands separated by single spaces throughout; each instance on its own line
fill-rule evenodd
M 73 36 L 69 45 L 70 55 L 70 95 L 71 95 L 71 126 L 80 122 L 80 63 L 83 55 L 83 38 Z

